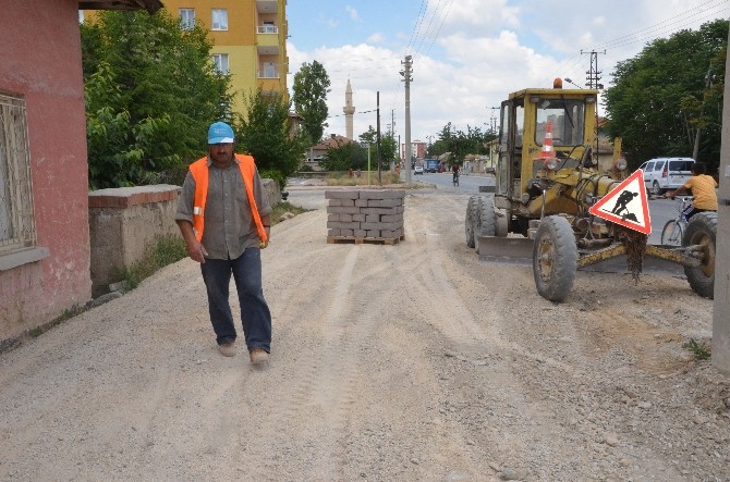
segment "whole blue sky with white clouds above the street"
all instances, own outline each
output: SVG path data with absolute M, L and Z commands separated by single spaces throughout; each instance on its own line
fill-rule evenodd
M 379 107 L 380 131 L 403 143 L 411 55 L 411 140 L 429 143 L 449 122 L 498 126 L 509 92 L 556 77 L 586 87 L 592 59 L 607 88 L 617 62 L 652 40 L 729 17 L 730 0 L 289 0 L 288 85 L 316 60 L 331 82 L 325 136 L 345 135 L 350 81 L 354 137 L 376 128 Z

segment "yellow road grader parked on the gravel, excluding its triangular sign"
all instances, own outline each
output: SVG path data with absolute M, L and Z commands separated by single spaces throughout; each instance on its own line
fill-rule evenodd
M 494 194 L 469 199 L 466 245 L 487 261 L 532 263 L 537 292 L 552 301 L 568 296 L 576 270 L 620 256 L 635 280 L 647 257 L 683 267 L 692 289 L 711 298 L 716 213 L 695 214 L 680 247 L 647 245 L 646 234 L 591 214 L 626 177 L 625 160 L 607 172 L 593 160 L 597 99 L 597 90 L 563 89 L 560 79 L 509 95 Z

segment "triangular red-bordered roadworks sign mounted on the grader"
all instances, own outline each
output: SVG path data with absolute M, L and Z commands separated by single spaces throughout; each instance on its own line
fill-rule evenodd
M 635 171 L 588 210 L 593 215 L 646 235 L 652 234 L 649 203 L 646 199 L 644 171 Z

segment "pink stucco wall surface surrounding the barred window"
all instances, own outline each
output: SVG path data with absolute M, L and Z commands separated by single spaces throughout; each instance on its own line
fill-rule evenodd
M 0 90 L 25 96 L 38 245 L 0 271 L 0 342 L 90 298 L 88 171 L 77 0 L 0 0 Z

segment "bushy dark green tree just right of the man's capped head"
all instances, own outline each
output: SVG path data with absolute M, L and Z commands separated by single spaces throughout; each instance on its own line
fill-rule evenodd
M 264 96 L 259 87 L 245 103 L 247 114 L 234 126 L 236 151 L 252 155 L 261 175 L 283 188 L 287 177 L 299 169 L 308 138 L 291 133 L 290 104 L 282 98 Z

